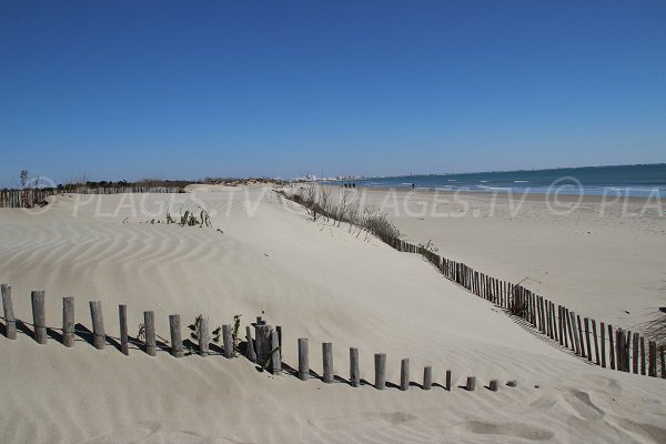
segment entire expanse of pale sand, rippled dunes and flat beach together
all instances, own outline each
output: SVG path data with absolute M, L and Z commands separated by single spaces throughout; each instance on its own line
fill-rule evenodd
M 124 356 L 111 344 L 99 351 L 79 340 L 65 349 L 52 337 L 39 345 L 19 333 L 16 341 L 0 336 L 3 443 L 666 441 L 663 380 L 589 365 L 421 256 L 312 222 L 271 189 L 189 191 L 64 195 L 34 211 L 1 209 L 0 281 L 12 285 L 17 317 L 31 320 L 32 290 L 46 291 L 50 326 L 61 323 L 62 296 L 75 297 L 77 322 L 89 329 L 88 301 L 102 301 L 111 336 L 120 303 L 128 304 L 130 335 L 152 310 L 161 337 L 169 337 L 170 314 L 184 325 L 200 313 L 212 325 L 242 314 L 244 330 L 263 312 L 282 325 L 291 367 L 296 340 L 307 337 L 310 366 L 321 374 L 320 344 L 332 342 L 335 374 L 347 379 L 349 349 L 359 347 L 370 384 L 272 376 L 244 357 L 150 357 L 135 347 Z M 369 195 L 391 210 L 386 191 Z M 421 191 L 396 195 L 413 210 L 432 201 Z M 471 215 L 390 216 L 406 239 L 432 240 L 440 254 L 503 279 L 527 278 L 554 301 L 618 325 L 637 325 L 663 305 L 663 219 L 620 218 L 616 208 L 597 218 L 594 199 L 551 218 L 537 198 L 514 214 L 497 198 L 494 215 L 484 216 L 488 196 L 465 199 Z M 208 210 L 211 228 L 163 223 L 169 208 L 178 214 L 196 206 Z M 408 357 L 411 381 L 421 383 L 432 365 L 435 386 L 375 390 L 379 352 L 387 354 L 392 384 Z M 446 370 L 451 392 L 441 386 Z M 475 392 L 458 387 L 470 375 Z M 498 392 L 484 387 L 491 379 L 502 382 Z M 508 380 L 517 387 L 504 385 Z

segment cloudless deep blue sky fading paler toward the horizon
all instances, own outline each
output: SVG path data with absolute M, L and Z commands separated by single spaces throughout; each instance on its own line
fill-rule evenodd
M 666 2 L 0 2 L 0 185 L 666 161 Z

